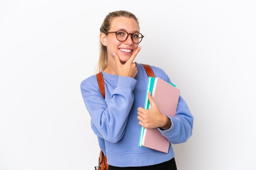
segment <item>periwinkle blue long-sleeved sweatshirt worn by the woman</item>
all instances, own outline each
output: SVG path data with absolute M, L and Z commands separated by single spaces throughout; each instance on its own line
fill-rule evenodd
M 81 93 L 91 117 L 91 127 L 108 164 L 117 167 L 150 166 L 174 157 L 171 144 L 186 142 L 192 135 L 193 116 L 180 96 L 171 128 L 158 129 L 170 142 L 168 153 L 138 146 L 141 126 L 137 108 L 144 107 L 148 75 L 139 63 L 135 78 L 103 73 L 106 98 L 99 92 L 96 75 L 81 82 Z M 150 66 L 156 77 L 171 83 L 165 72 Z

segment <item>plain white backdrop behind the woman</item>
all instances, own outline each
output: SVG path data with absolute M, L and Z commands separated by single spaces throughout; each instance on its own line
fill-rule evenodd
M 178 170 L 255 170 L 254 0 L 0 0 L 0 170 L 97 165 L 80 83 L 116 10 L 139 18 L 136 61 L 164 69 L 195 117 Z

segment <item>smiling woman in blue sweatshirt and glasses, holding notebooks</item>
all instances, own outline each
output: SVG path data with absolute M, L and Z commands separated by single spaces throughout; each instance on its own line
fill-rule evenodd
M 171 144 L 186 142 L 192 135 L 193 116 L 180 96 L 175 117 L 160 113 L 149 95 L 151 108 L 144 109 L 148 75 L 133 62 L 143 39 L 137 17 L 128 11 L 109 13 L 100 28 L 99 72 L 105 83 L 105 99 L 96 75 L 81 83 L 81 93 L 91 116 L 91 127 L 106 155 L 109 170 L 176 170 Z M 171 83 L 165 72 L 150 66 L 156 77 Z M 170 142 L 168 153 L 139 147 L 141 126 L 158 130 Z

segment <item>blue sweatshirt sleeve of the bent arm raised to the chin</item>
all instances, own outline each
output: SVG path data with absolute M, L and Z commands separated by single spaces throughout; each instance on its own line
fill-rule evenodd
M 91 116 L 91 126 L 94 133 L 108 142 L 116 143 L 124 135 L 128 115 L 132 107 L 134 78 L 119 76 L 117 86 L 110 99 L 106 102 L 99 92 L 96 76 L 91 76 L 81 83 L 81 93 L 85 106 Z M 125 104 L 124 104 L 125 103 Z

